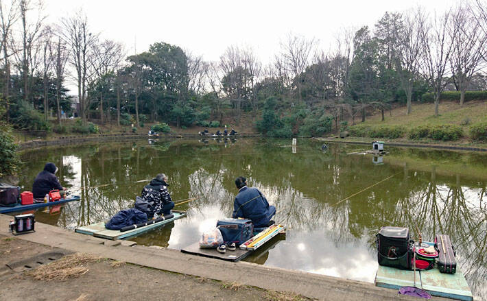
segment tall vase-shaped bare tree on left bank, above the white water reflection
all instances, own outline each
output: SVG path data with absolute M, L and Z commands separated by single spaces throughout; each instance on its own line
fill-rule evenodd
M 70 50 L 69 62 L 75 69 L 78 81 L 78 98 L 80 99 L 80 115 L 86 122 L 86 110 L 88 99 L 86 91 L 87 81 L 90 75 L 90 56 L 93 53 L 93 44 L 97 40 L 97 34 L 90 32 L 86 15 L 79 11 L 69 18 L 62 19 L 64 27 L 63 38 Z

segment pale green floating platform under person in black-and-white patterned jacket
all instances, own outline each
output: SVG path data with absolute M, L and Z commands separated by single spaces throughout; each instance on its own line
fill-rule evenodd
M 107 228 L 105 228 L 104 221 L 100 221 L 99 223 L 91 224 L 88 226 L 75 228 L 75 232 L 81 234 L 93 235 L 93 237 L 99 237 L 102 239 L 110 239 L 112 241 L 116 241 L 117 239 L 128 239 L 130 237 L 135 237 L 137 235 L 148 232 L 150 230 L 160 228 L 165 224 L 169 224 L 171 221 L 175 221 L 176 219 L 180 219 L 186 216 L 185 211 L 179 211 L 179 210 L 172 210 L 172 214 L 174 215 L 174 217 L 172 217 L 171 219 L 165 219 L 164 221 L 159 221 L 158 223 L 150 224 L 140 228 L 135 228 L 133 230 L 128 230 L 125 232 L 121 232 L 119 230 L 108 230 Z

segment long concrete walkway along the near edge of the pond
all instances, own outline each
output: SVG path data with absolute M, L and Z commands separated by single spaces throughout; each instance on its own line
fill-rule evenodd
M 0 234 L 12 236 L 8 223 L 12 217 L 0 215 Z M 86 252 L 169 272 L 237 282 L 274 291 L 292 291 L 317 300 L 418 300 L 399 296 L 397 291 L 375 287 L 372 283 L 265 267 L 244 261 L 231 263 L 216 259 L 183 254 L 177 250 L 133 245 L 130 241 L 98 239 L 56 226 L 36 223 L 36 232 L 16 236 L 73 252 Z M 130 246 L 132 245 L 132 246 Z M 433 298 L 432 300 L 447 300 Z

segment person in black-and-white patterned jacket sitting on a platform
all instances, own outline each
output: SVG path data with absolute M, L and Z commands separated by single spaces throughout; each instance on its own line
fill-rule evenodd
M 171 214 L 171 209 L 174 208 L 174 202 L 171 200 L 171 195 L 167 191 L 167 176 L 164 173 L 159 173 L 156 178 L 150 181 L 150 184 L 142 189 L 141 196 L 148 203 L 147 217 L 151 219 L 155 214 L 168 215 Z

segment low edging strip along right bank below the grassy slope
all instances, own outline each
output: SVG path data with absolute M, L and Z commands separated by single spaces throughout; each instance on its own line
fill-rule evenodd
M 334 143 L 348 143 L 348 144 L 362 144 L 371 145 L 372 141 L 382 140 L 385 141 L 386 145 L 399 146 L 399 147 L 424 147 L 433 149 L 451 149 L 451 150 L 466 150 L 474 152 L 487 152 L 487 147 L 482 146 L 462 146 L 462 145 L 448 145 L 448 144 L 431 144 L 431 143 L 416 143 L 416 142 L 399 142 L 399 141 L 387 141 L 384 139 L 340 139 L 340 138 L 323 138 L 323 137 L 313 137 L 311 139 L 323 142 L 334 142 Z

